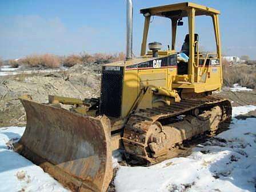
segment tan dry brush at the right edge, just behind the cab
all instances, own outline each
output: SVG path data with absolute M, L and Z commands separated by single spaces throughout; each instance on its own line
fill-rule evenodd
M 241 86 L 256 88 L 256 65 L 229 65 L 229 62 L 222 61 L 223 83 L 232 86 L 238 83 Z

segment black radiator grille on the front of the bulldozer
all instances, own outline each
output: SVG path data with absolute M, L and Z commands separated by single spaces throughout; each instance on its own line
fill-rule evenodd
M 114 70 L 113 70 L 114 69 Z M 119 70 L 118 70 L 119 69 Z M 121 116 L 123 67 L 102 68 L 99 111 L 110 117 Z

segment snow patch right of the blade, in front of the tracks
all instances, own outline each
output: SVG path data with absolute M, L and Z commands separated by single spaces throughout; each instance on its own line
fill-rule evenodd
M 256 106 L 233 107 L 233 117 L 255 109 Z M 256 118 L 233 118 L 229 130 L 195 147 L 189 157 L 169 159 L 150 167 L 118 166 L 115 189 L 124 192 L 255 191 L 255 124 Z

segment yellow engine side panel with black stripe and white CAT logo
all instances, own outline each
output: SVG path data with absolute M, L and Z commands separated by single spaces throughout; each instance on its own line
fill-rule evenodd
M 125 67 L 123 83 L 122 117 L 126 117 L 143 87 L 165 87 L 171 89 L 171 81 L 177 73 L 177 54 L 152 58 L 149 61 Z M 142 101 L 143 102 L 143 101 Z M 147 99 L 151 107 L 151 101 Z

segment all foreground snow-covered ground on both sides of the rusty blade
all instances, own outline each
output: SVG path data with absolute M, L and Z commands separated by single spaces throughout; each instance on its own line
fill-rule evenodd
M 233 107 L 233 117 L 256 106 Z M 230 129 L 198 145 L 189 157 L 150 167 L 119 166 L 116 191 L 255 191 L 256 118 L 233 118 Z M 25 127 L 0 128 L 0 191 L 66 191 L 49 174 L 8 149 Z

